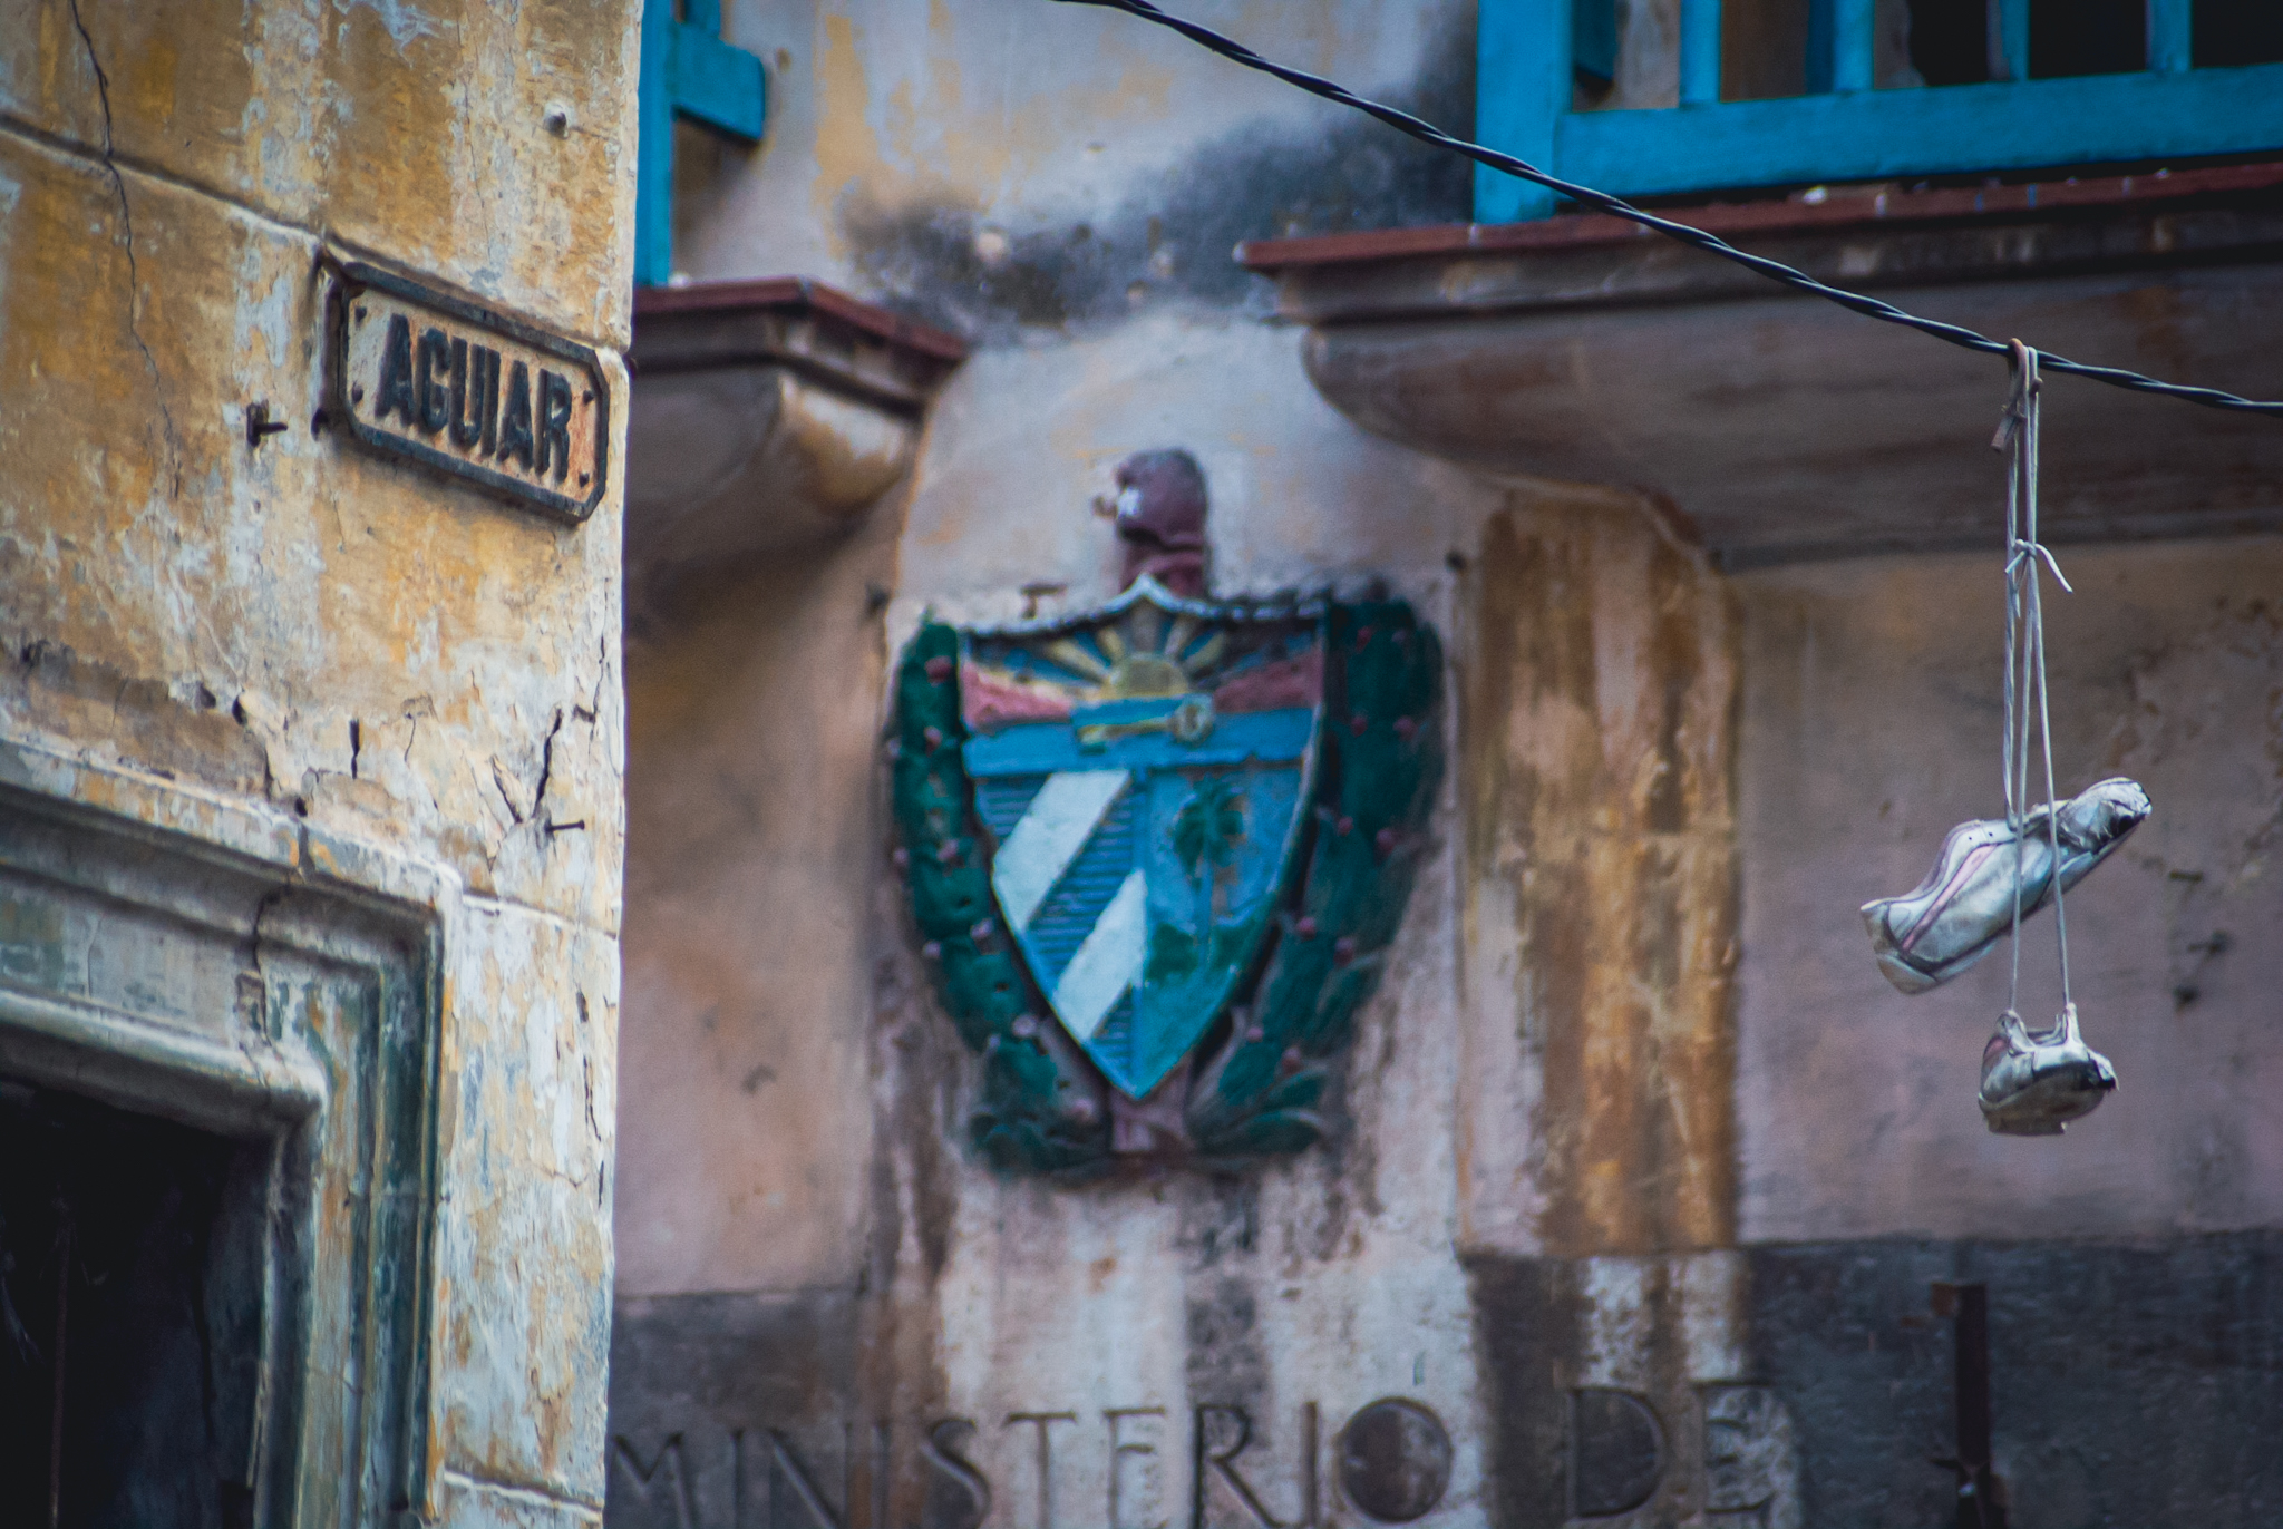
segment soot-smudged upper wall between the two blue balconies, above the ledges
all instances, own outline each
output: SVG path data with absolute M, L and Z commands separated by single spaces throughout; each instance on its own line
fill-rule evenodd
M 1194 16 L 1473 126 L 1473 5 L 1249 5 Z M 731 0 L 772 64 L 769 132 L 701 132 L 676 269 L 797 272 L 961 333 L 1043 338 L 1260 301 L 1237 240 L 1463 219 L 1473 178 L 1157 27 L 1009 0 Z

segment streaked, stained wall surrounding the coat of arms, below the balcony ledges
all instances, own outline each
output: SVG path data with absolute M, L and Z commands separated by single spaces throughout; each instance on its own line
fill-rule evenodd
M 1336 1146 L 1240 1178 L 1000 1180 L 961 1146 L 973 1063 L 877 822 L 881 660 L 922 607 L 1114 593 L 1087 504 L 1164 440 L 1212 479 L 1221 591 L 1386 577 L 1447 634 L 1450 826 L 1349 1050 Z M 1507 1417 L 1568 1385 L 1502 1394 L 1514 1257 L 1731 1237 L 1719 584 L 1639 500 L 1470 482 L 1340 424 L 1294 335 L 1173 317 L 977 354 L 909 507 L 874 516 L 886 532 L 685 589 L 630 650 L 612 1520 L 744 1502 L 801 1522 L 815 1495 L 865 1524 L 1087 1524 L 1112 1522 L 1116 1483 L 1116 1522 L 1162 1522 L 1203 1479 L 1205 1522 L 1249 1522 L 1210 1456 L 1251 1429 L 1231 1470 L 1265 1511 L 1349 1522 L 1333 1440 L 1393 1397 L 1452 1449 L 1425 1522 L 1507 1522 L 1491 1461 L 1527 1449 Z M 1562 806 L 1516 817 L 1532 799 Z M 1687 947 L 1632 920 L 1644 883 L 1689 899 Z M 1621 1114 L 1580 1105 L 1584 1073 Z M 1559 1210 L 1539 1182 L 1566 1187 Z M 1678 1287 L 1701 1362 L 1660 1397 L 1744 1374 L 1717 1271 Z M 1603 1367 L 1632 1385 L 1644 1365 Z

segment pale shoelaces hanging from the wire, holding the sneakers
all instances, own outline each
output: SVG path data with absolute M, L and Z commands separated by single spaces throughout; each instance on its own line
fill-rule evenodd
M 2046 831 L 2052 835 L 2052 931 L 2062 947 L 2062 1009 L 2068 1009 L 2068 911 L 2062 892 L 2062 803 L 2052 790 L 2052 705 L 2046 691 L 2046 605 L 2039 564 L 2068 589 L 2062 564 L 2036 539 L 2036 406 L 2041 356 L 2020 340 L 2014 358 L 2014 397 L 2007 399 L 1993 447 L 2007 452 L 2004 477 L 2004 822 L 2014 831 L 2014 977 L 2007 1011 L 2020 1013 L 2020 881 L 2030 835 L 2030 707 L 2036 707 L 2036 751 L 2046 762 Z M 2075 593 L 2075 591 L 2071 591 Z

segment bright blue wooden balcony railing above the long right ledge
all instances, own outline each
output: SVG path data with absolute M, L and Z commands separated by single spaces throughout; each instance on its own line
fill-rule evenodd
M 1573 112 L 1575 68 L 1605 68 L 1596 5 L 1482 0 L 1475 128 L 1619 196 L 2283 148 L 2283 64 L 2194 68 L 2192 0 L 2146 0 L 2148 68 L 2062 80 L 2030 78 L 2030 0 L 1991 0 L 2004 80 L 1911 89 L 1872 89 L 1877 0 L 1817 0 L 1806 78 L 1826 89 L 1781 100 L 1721 100 L 1721 0 L 1680 0 L 1680 105 Z M 1475 173 L 1477 221 L 1552 210 L 1541 187 Z

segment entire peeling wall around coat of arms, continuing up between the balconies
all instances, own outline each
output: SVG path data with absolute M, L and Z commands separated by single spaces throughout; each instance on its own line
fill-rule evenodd
M 1473 7 L 1199 14 L 1473 114 Z M 1637 495 L 1358 434 L 1301 335 L 1258 322 L 1240 237 L 1463 219 L 1461 164 L 1078 7 L 731 5 L 724 34 L 772 62 L 769 137 L 680 135 L 676 265 L 822 276 L 977 349 L 854 539 L 689 577 L 630 637 L 612 1522 L 1256 1522 L 1244 1492 L 1356 1522 L 1338 1440 L 1390 1399 L 1450 1449 L 1420 1522 L 1530 1522 L 1493 1481 L 1498 1260 L 1733 1241 L 1719 582 Z M 1454 767 L 1331 1143 L 1221 1178 L 1000 1180 L 963 1148 L 973 1061 L 888 858 L 886 660 L 922 609 L 1116 593 L 1089 502 L 1162 445 L 1208 475 L 1219 593 L 1383 582 L 1438 628 Z M 1635 917 L 1637 883 L 1683 947 Z M 1566 995 L 1532 986 L 1552 933 Z M 1578 1022 L 1598 1038 L 1564 1052 Z M 1571 1098 L 1587 1073 L 1623 1123 Z M 1703 1362 L 1660 1397 L 1737 1372 L 1724 1301 L 1687 1308 Z

